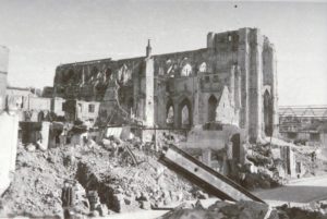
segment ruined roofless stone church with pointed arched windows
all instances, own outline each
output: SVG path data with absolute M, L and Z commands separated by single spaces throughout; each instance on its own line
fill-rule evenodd
M 105 123 L 179 129 L 216 121 L 242 127 L 251 141 L 278 124 L 275 49 L 257 28 L 209 33 L 197 50 L 152 54 L 148 42 L 145 57 L 62 64 L 53 90 L 99 101 Z

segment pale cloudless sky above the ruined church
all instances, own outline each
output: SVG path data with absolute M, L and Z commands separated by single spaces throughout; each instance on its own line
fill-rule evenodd
M 238 5 L 234 8 L 234 5 Z M 60 63 L 204 48 L 258 27 L 275 44 L 280 105 L 327 105 L 327 2 L 0 0 L 12 86 L 52 86 Z

